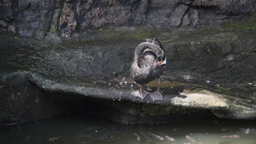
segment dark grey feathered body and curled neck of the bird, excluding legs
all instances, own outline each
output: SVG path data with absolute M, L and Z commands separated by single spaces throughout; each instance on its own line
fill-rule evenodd
M 164 73 L 164 66 L 158 61 L 165 60 L 165 52 L 160 41 L 149 39 L 139 44 L 131 65 L 131 78 L 139 85 L 144 85 L 159 78 Z

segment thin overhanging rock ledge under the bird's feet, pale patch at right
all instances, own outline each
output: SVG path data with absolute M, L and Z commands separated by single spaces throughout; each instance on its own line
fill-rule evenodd
M 46 79 L 40 74 L 22 72 L 5 75 L 1 81 L 3 85 L 10 87 L 22 85 L 22 83 L 16 83 L 15 81 L 28 80 L 34 83 L 43 91 L 83 95 L 83 97 L 93 97 L 113 101 L 132 101 L 133 103 L 178 106 L 191 109 L 210 109 L 216 116 L 220 118 L 256 118 L 255 107 L 251 104 L 245 103 L 245 101 L 240 98 L 235 98 L 237 102 L 234 102 L 234 97 L 226 94 L 211 92 L 207 89 L 200 88 L 200 85 L 197 85 L 198 88 L 195 88 L 195 85 L 191 86 L 186 85 L 185 83 L 167 81 L 168 79 L 165 77 L 163 77 L 162 79 L 165 83 L 165 85 L 160 86 L 161 91 L 163 91 L 163 100 L 154 102 L 150 98 L 142 100 L 140 98 L 133 97 L 132 92 L 136 91 L 135 89 L 138 89 L 138 86 L 136 86 L 136 83 L 131 82 L 129 78 L 119 80 L 115 79 L 110 81 L 87 81 L 87 84 L 84 83 L 85 85 L 83 86 L 74 86 L 68 85 L 68 83 L 58 83 L 54 80 Z M 172 85 L 170 85 L 170 87 L 167 87 L 167 82 Z M 177 86 L 173 88 L 173 86 L 177 85 L 177 83 L 182 86 Z M 147 88 L 154 89 L 154 87 L 152 86 L 148 86 Z M 183 92 L 178 92 L 177 89 L 178 91 Z M 209 87 L 208 89 L 211 88 Z M 38 102 L 39 99 L 37 100 L 37 103 Z

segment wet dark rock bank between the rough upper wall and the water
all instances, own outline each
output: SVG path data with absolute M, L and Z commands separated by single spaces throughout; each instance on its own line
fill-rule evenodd
M 153 102 L 131 94 L 139 88 L 129 75 L 142 29 L 148 27 L 102 29 L 57 45 L 1 35 L 1 125 L 72 113 L 71 106 L 73 113 L 87 110 L 122 123 L 213 117 L 210 110 L 219 118 L 256 118 L 254 30 L 155 31 L 167 65 L 164 98 Z M 155 91 L 156 81 L 145 89 Z

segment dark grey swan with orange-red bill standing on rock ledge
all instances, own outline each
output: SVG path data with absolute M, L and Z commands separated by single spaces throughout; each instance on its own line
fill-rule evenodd
M 164 73 L 166 65 L 165 51 L 162 44 L 156 38 L 147 39 L 135 48 L 131 64 L 131 79 L 140 85 L 138 91 L 133 92 L 134 97 L 144 99 L 147 95 L 153 100 L 162 100 L 159 91 L 160 76 Z M 143 85 L 158 79 L 158 89 L 155 92 L 147 92 Z

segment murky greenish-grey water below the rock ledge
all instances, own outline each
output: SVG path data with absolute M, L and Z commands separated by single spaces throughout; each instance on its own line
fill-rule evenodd
M 256 132 L 246 134 L 243 129 L 255 126 L 255 122 L 224 120 L 123 125 L 99 117 L 57 117 L 1 127 L 0 143 L 193 143 L 186 138 L 188 135 L 197 143 L 251 144 L 256 142 Z M 149 132 L 162 137 L 168 135 L 176 141 L 168 141 L 165 137 L 164 140 L 154 139 Z M 140 142 L 134 133 L 141 136 Z M 222 138 L 229 135 L 241 138 Z

